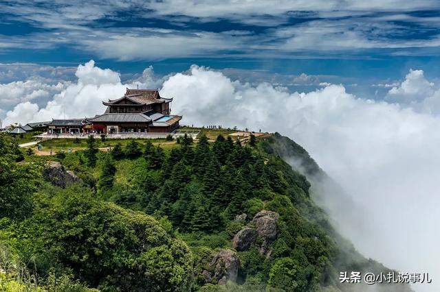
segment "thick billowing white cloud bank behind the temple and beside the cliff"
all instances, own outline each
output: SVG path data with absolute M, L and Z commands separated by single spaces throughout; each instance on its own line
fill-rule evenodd
M 329 212 L 339 215 L 337 228 L 360 252 L 404 272 L 429 272 L 433 283 L 417 291 L 440 289 L 440 91 L 423 71 L 409 71 L 382 101 L 357 98 L 338 84 L 308 93 L 252 86 L 199 66 L 163 79 L 152 74 L 146 69 L 122 84 L 118 73 L 91 61 L 78 66 L 76 82 L 52 88 L 58 91 L 43 106 L 23 101 L 5 121 L 92 116 L 103 112 L 102 100 L 139 84 L 174 97 L 172 110 L 185 124 L 280 132 L 305 147 L 362 210 L 324 195 Z

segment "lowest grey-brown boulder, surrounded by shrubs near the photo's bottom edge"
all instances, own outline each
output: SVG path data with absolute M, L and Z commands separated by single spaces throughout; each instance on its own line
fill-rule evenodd
M 210 263 L 210 267 L 213 268 L 213 279 L 217 284 L 226 284 L 228 280 L 236 281 L 237 273 L 239 272 L 240 260 L 236 255 L 236 252 L 232 250 L 219 250 L 214 255 Z

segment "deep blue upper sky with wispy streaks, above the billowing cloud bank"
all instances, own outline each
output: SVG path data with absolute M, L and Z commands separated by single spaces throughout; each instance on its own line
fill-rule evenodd
M 367 3 L 368 2 L 368 3 Z M 0 1 L 0 62 L 439 75 L 439 1 Z

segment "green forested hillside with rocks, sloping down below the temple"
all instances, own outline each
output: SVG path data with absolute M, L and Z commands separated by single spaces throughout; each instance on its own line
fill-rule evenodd
M 307 178 L 325 173 L 305 149 L 207 136 L 108 152 L 89 138 L 56 158 L 0 136 L 1 290 L 355 291 L 340 271 L 391 271 L 311 199 Z

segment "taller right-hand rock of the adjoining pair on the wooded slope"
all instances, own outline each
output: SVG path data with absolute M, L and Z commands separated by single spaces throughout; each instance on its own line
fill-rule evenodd
M 261 210 L 256 213 L 251 221 L 255 225 L 259 238 L 261 238 L 261 245 L 259 245 L 261 254 L 270 256 L 270 244 L 274 242 L 278 235 L 276 221 L 279 217 L 280 215 L 277 212 Z

